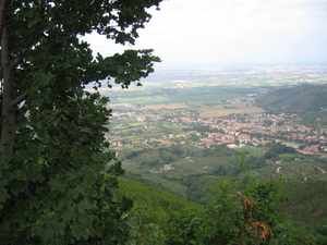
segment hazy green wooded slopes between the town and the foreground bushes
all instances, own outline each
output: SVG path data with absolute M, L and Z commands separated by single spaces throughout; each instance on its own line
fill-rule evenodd
M 292 220 L 318 228 L 314 224 L 323 223 L 327 216 L 327 176 L 322 172 L 326 159 L 300 155 L 279 144 L 237 150 L 172 146 L 132 151 L 123 162 L 129 177 L 201 204 L 209 203 L 210 186 L 230 177 L 242 179 L 244 171 L 263 181 L 283 180 L 288 198 L 282 211 Z M 164 171 L 166 164 L 171 169 Z

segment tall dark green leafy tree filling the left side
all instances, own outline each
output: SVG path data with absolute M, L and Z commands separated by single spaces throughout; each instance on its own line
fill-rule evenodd
M 116 197 L 108 99 L 85 88 L 128 88 L 159 59 L 93 57 L 80 37 L 133 45 L 160 1 L 0 1 L 0 244 L 124 243 L 131 204 Z

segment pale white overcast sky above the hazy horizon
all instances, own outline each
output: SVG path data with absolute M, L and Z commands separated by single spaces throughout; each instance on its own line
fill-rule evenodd
M 327 63 L 327 0 L 166 0 L 136 48 L 154 48 L 165 68 Z

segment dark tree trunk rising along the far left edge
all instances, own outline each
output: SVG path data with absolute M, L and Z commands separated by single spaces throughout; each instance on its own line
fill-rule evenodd
M 2 20 L 1 33 L 1 68 L 2 68 L 2 105 L 1 105 L 1 160 L 10 160 L 13 155 L 13 147 L 16 134 L 16 106 L 12 105 L 15 98 L 14 79 L 11 74 L 11 64 L 8 46 L 8 28 Z

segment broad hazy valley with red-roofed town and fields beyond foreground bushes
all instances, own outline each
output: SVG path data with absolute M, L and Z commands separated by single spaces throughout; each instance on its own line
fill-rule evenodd
M 313 221 L 319 213 L 323 221 L 325 197 L 324 201 L 318 200 L 320 195 L 308 198 L 307 192 L 317 186 L 316 192 L 327 194 L 327 127 L 318 115 L 307 123 L 299 111 L 271 110 L 268 102 L 289 86 L 322 90 L 327 86 L 322 85 L 322 76 L 316 76 L 315 85 L 292 81 L 258 86 L 247 81 L 246 86 L 214 82 L 187 86 L 175 81 L 129 93 L 117 89 L 110 94 L 113 114 L 108 139 L 128 179 L 195 203 L 207 203 L 211 186 L 225 179 L 282 180 L 292 197 L 286 209 L 307 208 L 299 220 Z M 293 195 L 294 188 L 302 195 Z

